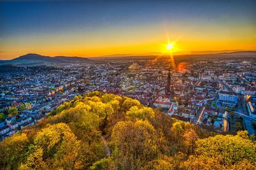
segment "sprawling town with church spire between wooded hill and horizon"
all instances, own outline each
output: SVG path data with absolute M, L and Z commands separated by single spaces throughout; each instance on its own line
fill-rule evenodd
M 8 66 L 0 73 L 1 139 L 86 92 L 137 99 L 184 122 L 236 134 L 256 129 L 253 57 L 127 57 L 55 66 Z

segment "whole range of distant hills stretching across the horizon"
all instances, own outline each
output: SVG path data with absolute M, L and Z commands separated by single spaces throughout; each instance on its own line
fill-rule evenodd
M 146 55 L 147 54 L 147 55 Z M 182 53 L 173 53 L 175 59 L 186 58 L 191 59 L 192 57 L 256 57 L 256 50 L 251 51 L 236 51 L 230 52 L 226 50 L 225 52 L 214 52 L 214 51 L 206 51 L 202 53 L 191 52 L 190 54 L 182 54 Z M 161 59 L 167 59 L 169 55 L 165 53 L 126 53 L 126 54 L 115 54 L 115 55 L 105 55 L 102 57 L 93 57 L 88 59 L 85 57 L 67 57 L 67 56 L 56 56 L 49 57 L 45 55 L 39 55 L 36 53 L 28 53 L 26 55 L 22 55 L 12 60 L 0 60 L 0 66 L 3 65 L 16 65 L 16 66 L 42 66 L 42 65 L 57 65 L 57 64 L 72 64 L 72 63 L 91 63 L 91 62 L 104 62 L 106 60 L 131 60 L 131 59 L 154 59 L 156 57 L 161 57 Z M 160 58 L 159 58 L 160 59 Z

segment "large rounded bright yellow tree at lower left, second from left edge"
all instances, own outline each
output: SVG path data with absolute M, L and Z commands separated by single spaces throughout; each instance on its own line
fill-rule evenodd
M 22 167 L 71 169 L 78 160 L 80 144 L 67 124 L 49 125 L 36 134 Z

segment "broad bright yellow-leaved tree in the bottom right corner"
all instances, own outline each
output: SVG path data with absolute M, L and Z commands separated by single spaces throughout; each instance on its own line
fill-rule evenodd
M 244 137 L 244 134 L 242 136 Z M 251 163 L 255 162 L 256 145 L 248 138 L 241 138 L 241 132 L 236 136 L 216 135 L 206 139 L 198 139 L 195 155 L 196 157 L 190 158 L 188 161 L 191 162 L 195 158 L 200 161 L 201 158 L 204 158 L 212 162 L 212 165 L 216 164 L 215 160 L 218 160 L 220 166 L 230 167 L 244 160 Z

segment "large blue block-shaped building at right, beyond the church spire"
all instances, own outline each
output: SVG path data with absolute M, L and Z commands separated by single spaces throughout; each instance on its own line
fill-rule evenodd
M 224 91 L 221 91 L 219 93 L 218 103 L 225 106 L 234 107 L 236 106 L 237 102 L 238 102 L 238 97 L 236 96 L 235 93 L 224 92 Z

